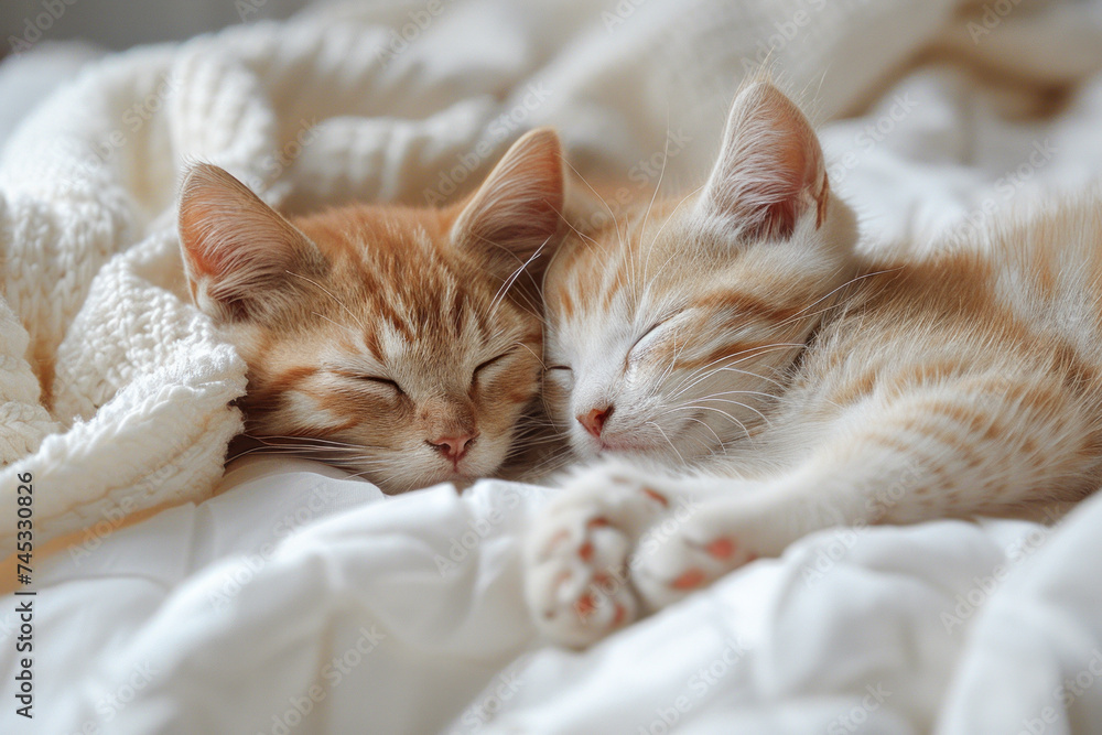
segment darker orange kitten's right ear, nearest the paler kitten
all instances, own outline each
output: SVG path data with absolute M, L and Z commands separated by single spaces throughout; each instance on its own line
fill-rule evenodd
M 555 245 L 562 206 L 562 145 L 554 130 L 537 128 L 512 144 L 472 195 L 452 240 L 488 252 L 504 249 L 512 256 L 507 259 L 511 272 Z

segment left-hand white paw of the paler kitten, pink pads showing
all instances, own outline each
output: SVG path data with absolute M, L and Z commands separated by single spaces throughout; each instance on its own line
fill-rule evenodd
M 641 473 L 602 464 L 574 476 L 526 541 L 525 595 L 537 627 L 568 646 L 587 646 L 633 621 L 639 605 L 628 559 L 669 499 Z

